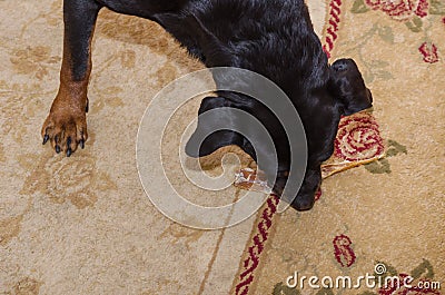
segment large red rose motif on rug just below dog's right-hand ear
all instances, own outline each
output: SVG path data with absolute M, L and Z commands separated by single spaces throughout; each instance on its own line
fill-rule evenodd
M 378 124 L 367 112 L 344 117 L 338 125 L 334 155 L 348 161 L 372 159 L 384 153 L 385 147 Z

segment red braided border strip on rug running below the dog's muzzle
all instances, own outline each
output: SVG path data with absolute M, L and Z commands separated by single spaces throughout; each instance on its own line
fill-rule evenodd
M 249 292 L 249 285 L 254 282 L 254 272 L 259 265 L 259 257 L 264 250 L 265 243 L 271 227 L 271 218 L 277 213 L 279 198 L 270 195 L 266 203 L 266 208 L 261 213 L 257 225 L 258 234 L 253 238 L 253 245 L 249 247 L 249 256 L 243 263 L 243 273 L 239 275 L 239 283 L 235 287 L 235 294 L 246 295 Z

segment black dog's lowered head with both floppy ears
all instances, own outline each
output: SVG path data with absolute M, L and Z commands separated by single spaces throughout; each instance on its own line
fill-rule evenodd
M 340 115 L 352 115 L 372 107 L 373 102 L 372 94 L 366 88 L 354 60 L 340 59 L 324 69 L 328 71 L 328 75 L 324 79 L 323 87 L 314 86 L 313 88 L 317 91 L 309 91 L 312 97 L 301 95 L 298 83 L 297 90 L 294 91 L 297 95 L 290 96 L 305 127 L 309 148 L 308 166 L 312 167 L 297 199 L 291 205 L 299 210 L 308 209 L 314 205 L 314 194 L 322 179 L 319 164 L 330 157 L 333 153 Z M 290 89 L 288 92 L 293 94 L 293 85 L 284 90 Z M 191 157 L 202 157 L 224 146 L 239 146 L 254 160 L 257 160 L 257 156 L 264 159 L 261 160 L 263 167 L 259 168 L 265 171 L 269 185 L 274 187 L 274 193 L 281 195 L 290 167 L 290 147 L 285 129 L 274 114 L 254 98 L 235 94 L 225 95 L 239 97 L 228 99 L 221 95 L 221 97 L 208 97 L 201 101 L 198 126 L 186 145 L 186 154 Z M 256 128 L 246 129 L 246 134 L 236 131 L 240 130 L 241 126 L 249 126 L 249 122 L 235 111 L 236 109 L 253 115 L 266 127 L 274 140 L 278 159 L 271 157 L 274 154 L 265 147 L 265 138 L 257 132 Z M 214 111 L 211 116 L 201 116 L 211 110 Z M 293 149 L 295 151 L 295 147 Z M 274 167 L 276 160 L 278 160 L 278 171 L 270 168 Z M 293 185 L 296 184 L 289 184 L 288 191 L 298 190 Z M 288 196 L 287 199 L 291 200 L 290 197 L 293 196 Z

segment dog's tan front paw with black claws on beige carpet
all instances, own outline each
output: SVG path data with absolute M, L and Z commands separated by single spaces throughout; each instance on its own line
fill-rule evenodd
M 70 157 L 79 146 L 85 148 L 88 139 L 86 108 L 56 99 L 41 134 L 43 145 L 49 141 L 57 154 L 63 151 Z

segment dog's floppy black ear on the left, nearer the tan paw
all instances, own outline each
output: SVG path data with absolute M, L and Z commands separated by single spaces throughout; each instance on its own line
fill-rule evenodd
M 226 99 L 221 97 L 202 99 L 198 126 L 186 145 L 188 156 L 204 157 L 225 146 L 243 146 L 244 137 L 233 131 L 237 116 L 228 107 Z

